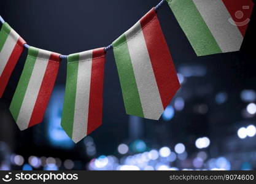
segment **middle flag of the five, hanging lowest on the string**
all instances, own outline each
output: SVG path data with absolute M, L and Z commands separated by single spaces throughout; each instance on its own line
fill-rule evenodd
M 61 126 L 74 142 L 102 124 L 104 48 L 68 56 Z

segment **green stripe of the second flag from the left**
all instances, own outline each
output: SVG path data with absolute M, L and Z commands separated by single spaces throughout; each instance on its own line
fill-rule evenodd
M 28 50 L 28 57 L 26 58 L 26 63 L 20 76 L 20 81 L 18 82 L 17 89 L 14 93 L 14 98 L 12 98 L 12 102 L 10 104 L 10 112 L 12 113 L 15 121 L 17 121 L 18 114 L 20 113 L 20 108 L 26 94 L 26 89 L 28 88 L 28 83 L 34 69 L 34 64 L 36 63 L 36 58 L 34 56 L 37 56 L 38 53 L 39 50 L 34 47 L 30 47 Z

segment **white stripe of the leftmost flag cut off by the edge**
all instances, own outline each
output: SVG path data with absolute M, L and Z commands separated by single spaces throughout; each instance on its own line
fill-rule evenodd
M 2 75 L 2 72 L 4 71 L 4 68 L 6 67 L 6 64 L 10 58 L 10 55 L 12 54 L 12 51 L 17 44 L 19 37 L 15 35 L 16 33 L 14 29 L 11 29 L 10 34 L 6 39 L 6 42 L 4 43 L 4 47 L 2 47 L 2 50 L 0 52 L 0 76 Z

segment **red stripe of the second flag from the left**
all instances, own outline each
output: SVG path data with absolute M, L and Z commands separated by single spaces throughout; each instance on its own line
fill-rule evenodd
M 60 66 L 60 54 L 52 53 L 42 80 L 28 127 L 42 122 Z

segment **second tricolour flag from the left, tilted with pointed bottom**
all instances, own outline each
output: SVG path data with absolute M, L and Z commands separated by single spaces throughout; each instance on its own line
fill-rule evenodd
M 60 54 L 29 47 L 10 112 L 20 130 L 41 123 L 60 66 Z

